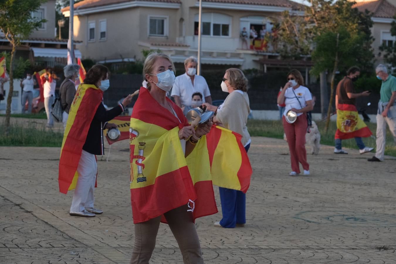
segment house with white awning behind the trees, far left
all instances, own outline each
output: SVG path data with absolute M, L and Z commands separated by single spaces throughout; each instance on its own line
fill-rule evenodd
M 67 40 L 55 37 L 55 0 L 48 0 L 31 15 L 36 19 L 46 19 L 47 22 L 42 23 L 30 34 L 29 38 L 23 40 L 23 45 L 17 48 L 17 57 L 29 58 L 32 63 L 43 68 L 67 64 Z M 4 34 L 0 32 L 1 51 L 11 51 L 11 46 Z M 78 49 L 75 55 L 81 57 Z

